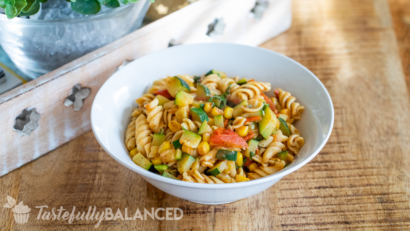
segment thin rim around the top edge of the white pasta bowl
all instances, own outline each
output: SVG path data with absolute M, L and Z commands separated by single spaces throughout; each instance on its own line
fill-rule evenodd
M 292 167 L 287 167 L 287 169 L 285 170 L 281 170 L 279 172 L 276 172 L 274 174 L 271 174 L 269 176 L 265 176 L 262 178 L 258 178 L 258 179 L 254 179 L 251 181 L 245 181 L 245 182 L 236 182 L 236 183 L 226 183 L 226 184 L 202 184 L 202 183 L 194 183 L 194 182 L 187 182 L 187 181 L 180 181 L 180 180 L 175 180 L 175 179 L 171 179 L 171 178 L 166 178 L 164 176 L 161 176 L 159 174 L 155 174 L 153 172 L 149 172 L 141 167 L 139 167 L 138 165 L 130 165 L 128 163 L 126 163 L 125 161 L 123 161 L 121 158 L 116 158 L 114 155 L 112 155 L 112 153 L 110 153 L 106 147 L 102 144 L 102 142 L 100 141 L 100 139 L 98 138 L 98 135 L 96 135 L 96 131 L 94 130 L 94 126 L 93 126 L 93 112 L 95 111 L 95 102 L 96 102 L 96 98 L 98 97 L 98 94 L 100 93 L 100 89 L 103 88 L 103 86 L 107 83 L 107 81 L 112 78 L 114 76 L 111 75 L 105 82 L 104 84 L 100 87 L 100 89 L 98 89 L 98 92 L 95 96 L 95 98 L 93 99 L 93 103 L 91 105 L 91 113 L 90 113 L 90 121 L 91 121 L 91 129 L 93 130 L 94 136 L 96 137 L 98 143 L 100 144 L 101 147 L 103 147 L 104 151 L 107 152 L 109 154 L 109 156 L 111 156 L 114 160 L 116 160 L 117 162 L 119 162 L 121 165 L 127 167 L 128 169 L 141 174 L 145 177 L 151 178 L 153 180 L 157 180 L 163 183 L 168 183 L 171 185 L 177 185 L 177 186 L 182 186 L 182 187 L 186 187 L 186 188 L 203 188 L 203 189 L 227 189 L 227 188 L 241 188 L 241 187 L 246 187 L 246 186 L 252 186 L 252 185 L 257 185 L 257 184 L 261 184 L 261 183 L 266 183 L 268 181 L 273 181 L 275 179 L 281 179 L 283 176 L 286 176 L 287 174 L 290 174 L 296 170 L 298 170 L 299 168 L 301 168 L 303 165 L 306 165 L 310 160 L 312 160 L 322 149 L 323 146 L 325 146 L 326 142 L 328 141 L 330 134 L 332 133 L 333 130 L 333 124 L 334 124 L 334 120 L 335 120 L 335 111 L 334 111 L 334 107 L 333 107 L 333 101 L 332 98 L 330 97 L 330 94 L 328 92 L 328 90 L 326 89 L 326 87 L 323 85 L 323 83 L 319 80 L 319 78 L 317 78 L 316 75 L 314 75 L 314 73 L 312 73 L 312 71 L 310 71 L 309 69 L 307 69 L 305 66 L 303 66 L 302 64 L 300 64 L 299 62 L 296 62 L 294 59 L 287 57 L 286 55 L 282 55 L 276 51 L 273 50 L 269 50 L 266 48 L 261 48 L 261 47 L 253 47 L 253 46 L 246 46 L 246 45 L 241 45 L 241 44 L 235 44 L 235 43 L 197 43 L 197 44 L 187 44 L 187 45 L 178 45 L 178 46 L 172 46 L 169 48 L 165 48 L 162 50 L 158 50 L 155 51 L 153 53 L 149 53 L 147 55 L 144 55 L 142 57 L 139 57 L 138 59 L 133 60 L 132 62 L 135 62 L 139 59 L 142 58 L 149 58 L 150 56 L 154 56 L 157 54 L 160 54 L 162 52 L 164 52 L 164 50 L 178 50 L 179 47 L 181 46 L 236 46 L 237 48 L 253 48 L 253 49 L 259 49 L 262 52 L 269 52 L 269 53 L 273 53 L 275 55 L 278 55 L 284 59 L 288 59 L 289 61 L 295 63 L 298 66 L 301 66 L 302 69 L 304 69 L 305 71 L 307 71 L 307 73 L 310 73 L 310 75 L 313 76 L 313 78 L 319 82 L 320 87 L 324 90 L 324 92 L 326 93 L 326 96 L 329 100 L 330 103 L 330 110 L 331 110 L 331 121 L 330 121 L 330 126 L 328 129 L 328 133 L 326 135 L 326 137 L 323 139 L 323 141 L 321 142 L 321 144 L 319 145 L 319 147 L 314 150 L 309 156 L 307 156 L 307 158 L 305 160 L 303 160 L 301 163 L 294 165 Z M 194 48 L 191 48 L 192 50 L 195 50 Z M 131 63 L 132 63 L 131 62 Z M 128 66 L 128 65 L 127 65 Z M 122 70 L 126 70 L 125 66 Z

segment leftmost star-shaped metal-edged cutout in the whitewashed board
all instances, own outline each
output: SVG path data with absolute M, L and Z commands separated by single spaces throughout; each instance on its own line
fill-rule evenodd
M 29 136 L 31 132 L 39 126 L 38 121 L 40 114 L 36 112 L 35 108 L 30 110 L 24 109 L 21 114 L 16 117 L 16 124 L 14 124 L 13 130 L 17 132 L 18 137 L 23 135 Z

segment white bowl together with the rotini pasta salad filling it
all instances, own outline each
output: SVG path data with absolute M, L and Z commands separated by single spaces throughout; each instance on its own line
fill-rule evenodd
M 91 127 L 110 156 L 160 190 L 223 204 L 309 162 L 333 117 L 326 88 L 293 59 L 209 43 L 151 53 L 114 73 L 93 101 Z

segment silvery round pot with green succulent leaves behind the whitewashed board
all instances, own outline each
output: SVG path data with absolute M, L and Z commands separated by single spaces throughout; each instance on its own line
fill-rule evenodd
M 36 78 L 136 30 L 150 1 L 0 0 L 0 45 Z

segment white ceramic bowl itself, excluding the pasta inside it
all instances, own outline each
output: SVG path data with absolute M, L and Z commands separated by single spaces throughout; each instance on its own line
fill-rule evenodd
M 166 178 L 132 162 L 124 144 L 125 128 L 130 113 L 153 80 L 166 76 L 202 75 L 210 69 L 224 71 L 228 76 L 255 78 L 271 82 L 273 89 L 282 88 L 296 96 L 305 106 L 296 128 L 305 144 L 295 160 L 285 169 L 260 179 L 228 184 L 201 184 Z M 224 204 L 250 197 L 294 172 L 326 144 L 333 128 L 333 104 L 320 80 L 298 62 L 263 48 L 229 43 L 206 43 L 173 46 L 134 60 L 112 75 L 98 91 L 91 108 L 91 127 L 98 142 L 116 161 L 160 190 L 175 197 L 201 204 Z M 121 177 L 121 176 L 118 176 Z

